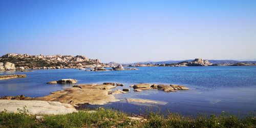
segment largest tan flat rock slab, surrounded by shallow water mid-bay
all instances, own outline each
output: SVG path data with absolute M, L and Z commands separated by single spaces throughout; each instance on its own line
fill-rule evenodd
M 119 101 L 109 92 L 111 88 L 115 88 L 112 85 L 103 84 L 78 84 L 73 88 L 52 92 L 48 96 L 37 97 L 33 100 L 44 100 L 44 101 L 59 101 L 61 103 L 69 103 L 74 106 L 76 104 L 105 104 L 108 102 Z

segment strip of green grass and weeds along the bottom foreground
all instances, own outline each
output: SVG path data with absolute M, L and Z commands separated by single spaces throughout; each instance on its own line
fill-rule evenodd
M 44 115 L 36 119 L 26 111 L 0 113 L 0 127 L 256 127 L 254 114 L 244 118 L 222 113 L 219 116 L 184 117 L 170 113 L 167 116 L 150 113 L 146 120 L 131 120 L 125 113 L 114 110 L 79 111 L 67 115 Z

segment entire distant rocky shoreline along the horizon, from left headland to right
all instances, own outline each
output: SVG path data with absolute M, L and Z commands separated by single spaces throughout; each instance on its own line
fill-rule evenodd
M 124 65 L 125 67 L 187 67 L 187 66 L 256 66 L 256 63 L 223 63 L 214 64 L 202 58 L 196 58 L 193 61 L 183 61 L 178 63 L 162 64 L 140 64 Z M 105 69 L 111 68 L 111 69 Z M 115 62 L 101 63 L 99 59 L 89 59 L 86 56 L 70 55 L 28 55 L 28 54 L 6 54 L 0 57 L 0 71 L 10 70 L 33 70 L 33 69 L 80 69 L 85 71 L 122 71 L 138 70 L 136 68 L 123 68 L 122 65 Z

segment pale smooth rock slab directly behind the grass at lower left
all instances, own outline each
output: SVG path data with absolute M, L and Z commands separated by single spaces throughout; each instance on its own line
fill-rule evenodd
M 67 103 L 40 100 L 0 100 L 0 111 L 17 113 L 25 107 L 32 115 L 58 115 L 77 112 L 74 106 Z

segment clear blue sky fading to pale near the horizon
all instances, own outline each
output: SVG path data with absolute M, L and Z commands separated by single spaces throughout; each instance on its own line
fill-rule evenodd
M 256 1 L 1 0 L 0 55 L 256 58 Z

